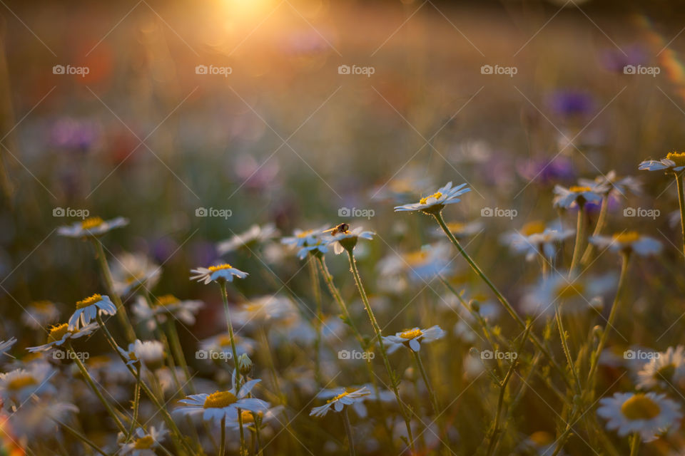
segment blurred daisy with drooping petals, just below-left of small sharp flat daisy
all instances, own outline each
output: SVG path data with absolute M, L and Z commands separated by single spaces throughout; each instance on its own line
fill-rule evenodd
M 138 296 L 136 302 L 131 306 L 133 315 L 138 321 L 145 321 L 147 328 L 154 331 L 157 323 L 166 322 L 168 316 L 176 318 L 181 323 L 188 326 L 195 324 L 195 315 L 205 305 L 203 301 L 186 300 L 176 298 L 171 294 L 152 298 L 152 305 L 148 304 L 147 299 Z

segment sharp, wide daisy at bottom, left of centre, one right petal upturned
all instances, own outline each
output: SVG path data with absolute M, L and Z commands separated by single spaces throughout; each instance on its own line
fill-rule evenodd
M 175 411 L 183 415 L 196 415 L 202 413 L 203 420 L 215 421 L 220 424 L 221 420 L 227 422 L 238 417 L 238 409 L 250 410 L 250 412 L 263 412 L 268 410 L 269 403 L 257 399 L 246 397 L 252 388 L 261 380 L 250 380 L 240 387 L 240 391 L 235 393 L 235 385 L 228 391 L 216 391 L 212 394 L 201 393 L 186 396 L 178 402 L 186 404 Z

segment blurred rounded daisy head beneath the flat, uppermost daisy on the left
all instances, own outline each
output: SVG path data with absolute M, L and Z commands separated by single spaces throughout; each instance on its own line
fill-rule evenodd
M 110 261 L 114 291 L 119 296 L 144 286 L 152 289 L 161 276 L 161 267 L 143 254 L 125 253 Z

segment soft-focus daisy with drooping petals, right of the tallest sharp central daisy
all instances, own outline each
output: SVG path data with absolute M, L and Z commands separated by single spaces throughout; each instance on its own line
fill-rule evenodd
M 502 236 L 502 242 L 516 253 L 526 254 L 532 261 L 538 254 L 546 259 L 554 259 L 557 247 L 575 234 L 574 229 L 561 229 L 559 224 L 547 227 L 544 222 L 534 221 L 524 224 L 520 232 L 514 231 Z

